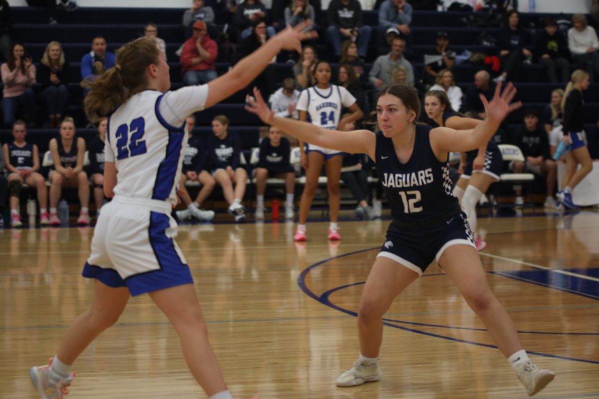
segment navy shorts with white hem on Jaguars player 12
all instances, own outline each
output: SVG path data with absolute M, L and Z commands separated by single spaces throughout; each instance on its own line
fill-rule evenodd
M 422 276 L 428 265 L 433 260 L 438 263 L 443 252 L 452 245 L 470 245 L 476 249 L 464 212 L 426 229 L 400 229 L 389 225 L 377 258 L 389 258 Z

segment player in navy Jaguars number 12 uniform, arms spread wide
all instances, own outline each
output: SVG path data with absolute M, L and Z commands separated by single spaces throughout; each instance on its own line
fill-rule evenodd
M 465 214 L 452 194 L 447 153 L 480 148 L 501 121 L 521 106 L 513 103 L 516 89 L 497 85 L 491 102 L 481 98 L 487 117 L 474 129 L 454 130 L 415 124 L 418 96 L 403 84 L 381 90 L 377 121 L 381 130 L 338 132 L 301 121 L 274 117 L 258 89 L 246 109 L 264 123 L 298 139 L 346 153 L 365 153 L 376 169 L 391 205 L 393 221 L 359 303 L 360 355 L 353 367 L 337 378 L 338 386 L 355 386 L 380 379 L 378 366 L 383 339 L 383 315 L 432 260 L 449 275 L 468 305 L 482 319 L 497 347 L 508 358 L 529 395 L 539 392 L 555 374 L 541 370 L 528 358 L 512 319 L 493 296 L 474 246 Z

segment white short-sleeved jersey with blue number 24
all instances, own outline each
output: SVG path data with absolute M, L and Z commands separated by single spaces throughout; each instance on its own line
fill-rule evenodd
M 341 120 L 341 108 L 355 102 L 356 99 L 345 87 L 331 84 L 326 90 L 317 87 L 305 89 L 299 95 L 297 109 L 307 111 L 313 124 L 335 130 Z

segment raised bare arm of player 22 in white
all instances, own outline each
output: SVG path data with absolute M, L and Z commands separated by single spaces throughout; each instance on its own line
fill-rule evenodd
M 305 20 L 294 28 L 288 25 L 283 31 L 268 39 L 265 45 L 235 64 L 231 71 L 210 81 L 204 108 L 213 106 L 252 83 L 279 51 L 297 50 L 301 53 L 301 41 L 317 35 L 314 31 L 302 32 L 310 25 L 310 20 Z

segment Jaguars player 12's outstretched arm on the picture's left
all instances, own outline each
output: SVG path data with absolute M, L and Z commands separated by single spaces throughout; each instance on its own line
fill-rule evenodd
M 346 153 L 368 154 L 374 159 L 376 136 L 370 130 L 339 132 L 292 118 L 276 117 L 256 87 L 254 88 L 254 97 L 248 96 L 246 109 L 252 114 L 258 115 L 264 123 L 279 127 L 283 132 L 310 144 Z

